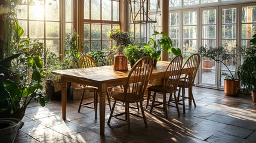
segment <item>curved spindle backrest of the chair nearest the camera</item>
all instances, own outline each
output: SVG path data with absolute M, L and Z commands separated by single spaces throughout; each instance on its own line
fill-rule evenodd
M 134 64 L 131 71 L 129 71 L 127 83 L 124 87 L 125 100 L 136 101 L 143 98 L 152 71 L 153 60 L 151 57 L 142 57 Z

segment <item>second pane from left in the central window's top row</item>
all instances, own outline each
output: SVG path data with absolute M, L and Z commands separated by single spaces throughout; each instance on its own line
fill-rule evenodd
M 100 0 L 91 0 L 91 19 L 100 20 Z

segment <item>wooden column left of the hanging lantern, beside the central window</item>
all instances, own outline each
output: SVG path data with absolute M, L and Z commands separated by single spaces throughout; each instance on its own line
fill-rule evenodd
M 127 32 L 129 30 L 129 2 L 127 0 L 121 0 L 120 21 L 120 29 Z

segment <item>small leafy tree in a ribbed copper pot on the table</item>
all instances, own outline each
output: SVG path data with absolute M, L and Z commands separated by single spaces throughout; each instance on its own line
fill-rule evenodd
M 116 42 L 116 53 L 114 58 L 114 70 L 128 70 L 127 66 L 127 57 L 122 55 L 124 52 L 125 46 L 133 43 L 133 40 L 128 32 L 122 32 L 120 29 L 111 29 L 109 33 L 109 38 L 113 39 Z

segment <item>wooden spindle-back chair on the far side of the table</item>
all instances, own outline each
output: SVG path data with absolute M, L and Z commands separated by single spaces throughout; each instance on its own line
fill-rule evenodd
M 91 57 L 89 57 L 88 55 L 82 55 L 78 60 L 78 67 L 79 68 L 88 68 L 88 67 L 97 67 L 97 65 L 91 59 Z M 81 96 L 78 112 L 80 112 L 81 106 L 84 106 L 87 108 L 93 108 L 93 109 L 95 109 L 95 118 L 97 118 L 98 88 L 95 88 L 93 86 L 83 85 L 83 89 L 84 89 L 84 92 L 82 93 L 82 96 Z M 94 92 L 94 101 L 83 103 L 85 91 Z M 91 105 L 89 105 L 92 103 L 94 103 L 93 107 Z

